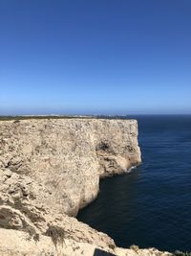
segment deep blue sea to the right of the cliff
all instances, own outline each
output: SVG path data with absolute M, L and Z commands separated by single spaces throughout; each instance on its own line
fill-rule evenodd
M 80 211 L 117 245 L 191 251 L 191 116 L 135 116 L 142 165 L 100 181 Z

